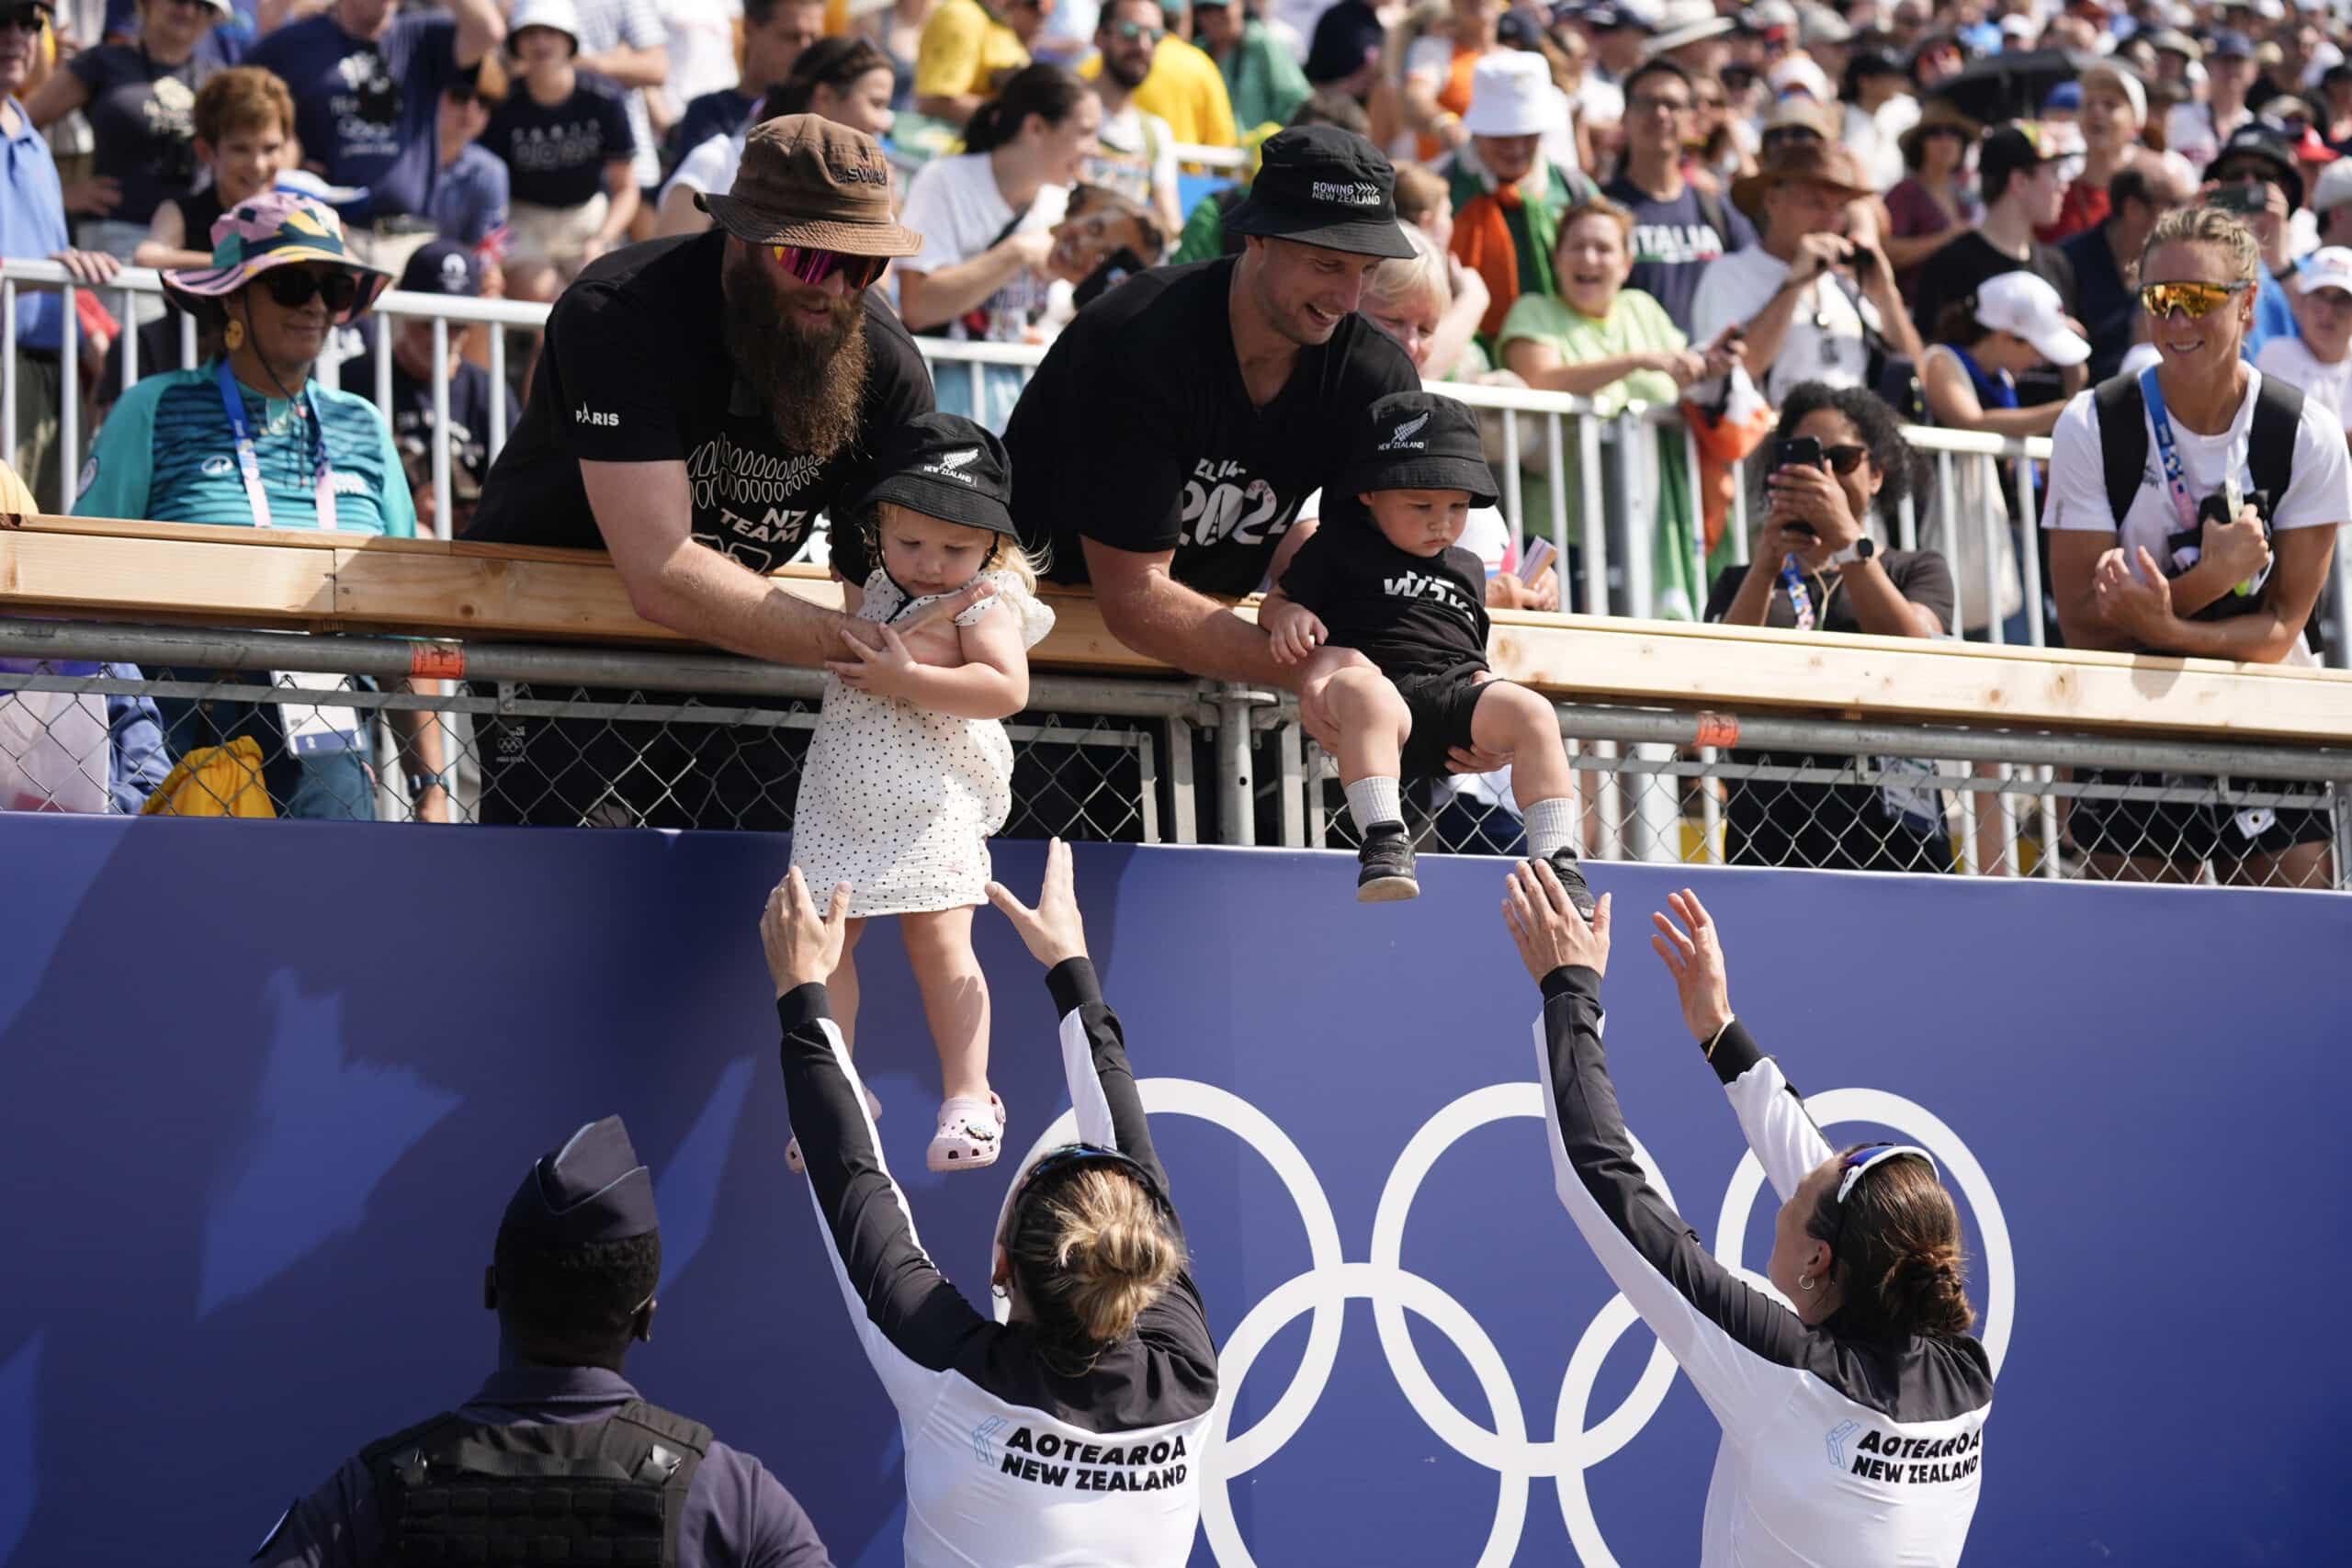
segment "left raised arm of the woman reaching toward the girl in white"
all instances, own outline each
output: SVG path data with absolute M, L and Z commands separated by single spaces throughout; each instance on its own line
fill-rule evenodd
M 783 1023 L 783 1095 L 816 1218 L 833 1239 L 833 1274 L 866 1359 L 891 1403 L 908 1408 L 929 1396 L 934 1375 L 976 1335 L 995 1333 L 995 1324 L 974 1312 L 922 1251 L 906 1192 L 882 1164 L 866 1091 L 826 999 L 823 978 L 842 959 L 847 922 L 849 884 L 833 889 L 833 905 L 818 914 L 795 867 L 767 898 L 760 943 Z

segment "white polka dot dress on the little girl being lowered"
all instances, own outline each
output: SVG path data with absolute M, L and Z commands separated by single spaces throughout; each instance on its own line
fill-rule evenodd
M 967 609 L 957 625 L 1021 616 L 1021 646 L 1037 646 L 1054 611 L 1009 571 L 985 578 L 997 597 Z M 858 618 L 896 621 L 927 604 L 908 604 L 875 571 Z M 828 677 L 793 809 L 793 865 L 816 898 L 849 882 L 858 919 L 988 903 L 988 835 L 1011 816 L 1011 778 L 1014 745 L 997 719 L 960 719 Z

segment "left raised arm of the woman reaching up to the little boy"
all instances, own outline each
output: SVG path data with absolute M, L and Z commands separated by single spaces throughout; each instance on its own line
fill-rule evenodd
M 1809 1331 L 1700 1246 L 1642 1171 L 1602 1051 L 1609 898 L 1585 926 L 1552 867 L 1529 863 L 1503 914 L 1543 985 L 1536 1067 L 1559 1204 L 1724 1429 L 1750 1432 L 1790 1396 Z

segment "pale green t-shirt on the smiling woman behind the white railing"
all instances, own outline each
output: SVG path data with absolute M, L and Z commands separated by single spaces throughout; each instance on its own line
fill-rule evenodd
M 1609 308 L 1606 320 L 1592 320 L 1590 315 L 1578 315 L 1562 299 L 1552 294 L 1522 294 L 1510 315 L 1503 317 L 1501 331 L 1501 357 L 1508 362 L 1508 348 L 1512 339 L 1526 339 L 1529 343 L 1543 343 L 1559 355 L 1562 364 L 1590 364 L 1592 360 L 1613 360 L 1616 355 L 1656 353 L 1663 348 L 1686 348 L 1689 339 L 1682 336 L 1682 327 L 1665 315 L 1661 306 L 1649 294 L 1639 289 L 1621 289 L 1616 303 Z M 1628 404 L 1649 402 L 1672 407 L 1682 400 L 1675 388 L 1675 378 L 1665 371 L 1637 369 L 1630 376 L 1618 376 L 1597 393 L 1585 395 L 1602 418 L 1613 418 L 1623 414 Z M 1705 578 L 1698 562 L 1698 534 L 1696 517 L 1698 508 L 1691 496 L 1689 458 L 1684 451 L 1682 428 L 1658 430 L 1646 449 L 1632 454 L 1644 463 L 1642 489 L 1656 503 L 1656 517 L 1651 522 L 1651 614 L 1668 621 L 1696 621 L 1698 607 L 1705 602 Z M 1649 456 L 1656 454 L 1656 463 Z M 1529 454 L 1531 461 L 1543 463 L 1543 454 Z M 1529 458 L 1522 458 L 1529 461 Z M 1604 477 L 1602 496 L 1604 505 L 1623 508 L 1623 496 L 1628 494 L 1623 463 L 1625 454 L 1613 447 L 1602 451 Z M 1576 433 L 1566 433 L 1562 442 L 1562 477 L 1559 477 L 1566 501 L 1569 501 L 1569 531 L 1576 534 L 1576 520 L 1583 515 L 1583 444 Z M 1545 475 L 1526 475 L 1519 487 L 1522 505 L 1526 508 L 1529 531 L 1550 531 L 1550 489 Z M 1635 520 L 1611 517 L 1609 531 L 1616 538 L 1637 538 Z M 1639 609 L 1639 607 L 1630 607 Z

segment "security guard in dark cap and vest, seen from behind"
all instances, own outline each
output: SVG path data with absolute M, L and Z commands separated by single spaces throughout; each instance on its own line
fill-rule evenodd
M 532 1164 L 494 1258 L 499 1371 L 456 1410 L 362 1448 L 252 1561 L 833 1568 L 760 1460 L 621 1378 L 652 1335 L 661 1218 L 619 1117 Z

